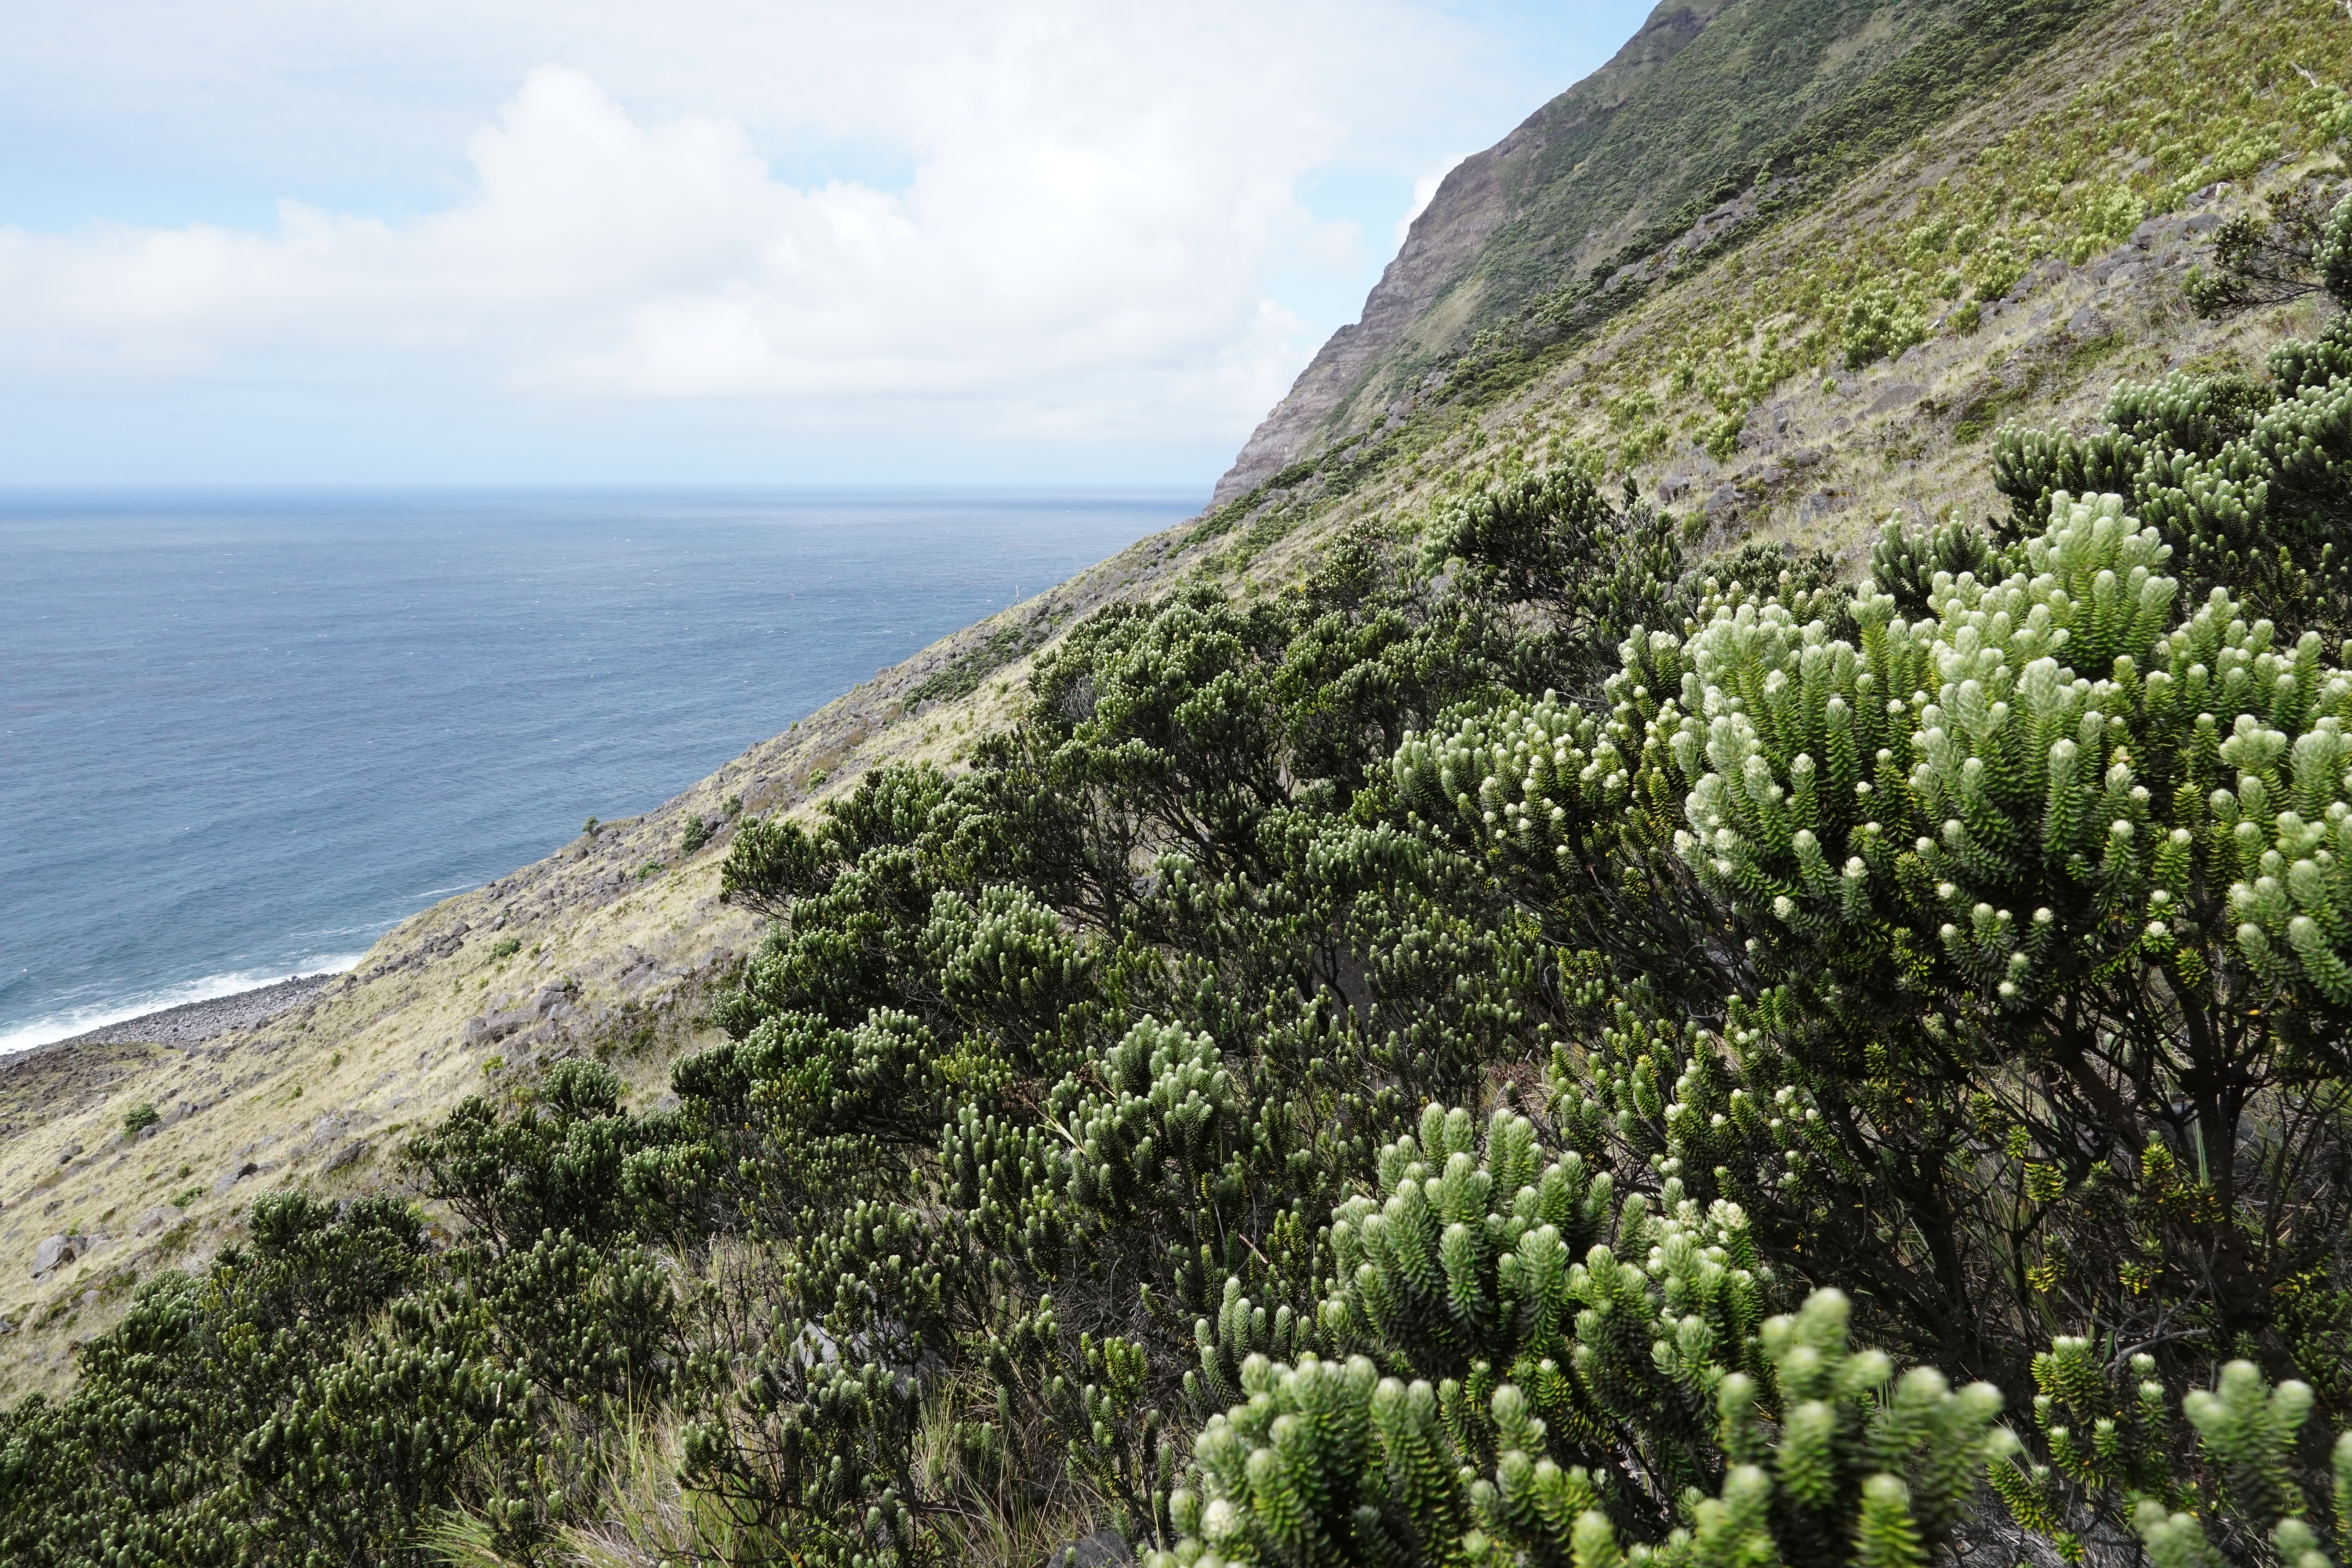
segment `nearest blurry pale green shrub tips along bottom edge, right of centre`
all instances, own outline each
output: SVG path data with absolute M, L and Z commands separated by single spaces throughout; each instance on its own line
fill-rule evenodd
M 1247 1403 L 1200 1434 L 1192 1486 L 1171 1500 L 1183 1540 L 1152 1568 L 1924 1563 L 1983 1465 L 2011 1448 L 1994 1427 L 1999 1394 L 1955 1392 L 1929 1368 L 1893 1378 L 1886 1356 L 1849 1349 L 1835 1291 L 1764 1324 L 1759 1345 L 1757 1375 L 1726 1373 L 1710 1401 L 1724 1467 L 1712 1495 L 1682 1495 L 1686 1523 L 1635 1542 L 1592 1472 L 1550 1458 L 1557 1439 L 1510 1382 L 1484 1401 L 1494 1460 L 1472 1465 L 1482 1455 L 1449 1422 L 1446 1387 L 1381 1378 L 1369 1356 L 1254 1359 Z

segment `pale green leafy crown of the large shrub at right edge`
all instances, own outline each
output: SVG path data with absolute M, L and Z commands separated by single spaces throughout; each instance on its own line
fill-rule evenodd
M 1705 771 L 1682 853 L 1792 933 L 1884 919 L 1917 877 L 1945 910 L 1945 959 L 2006 1006 L 2072 973 L 2044 961 L 2053 905 L 2100 917 L 2067 922 L 2084 961 L 2131 945 L 2166 959 L 2173 924 L 2197 929 L 2192 884 L 2225 884 L 2237 940 L 2187 954 L 2197 971 L 2241 954 L 2272 987 L 2352 1001 L 2336 846 L 2352 679 L 2317 637 L 2274 651 L 2220 590 L 2173 623 L 2164 557 L 2119 498 L 2060 496 L 2025 571 L 1938 576 L 1936 621 L 1856 602 L 1860 649 L 1773 607 L 1719 614 L 1689 646 Z M 2138 773 L 2171 783 L 2171 755 L 2234 769 L 2237 790 L 2183 792 L 2164 820 Z

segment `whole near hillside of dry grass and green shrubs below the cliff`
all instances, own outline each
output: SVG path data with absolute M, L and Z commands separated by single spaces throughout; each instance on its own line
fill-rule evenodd
M 2173 263 L 2331 183 L 2352 115 L 2293 66 L 2347 80 L 2345 38 L 2060 45 L 1846 207 L 1491 334 L 421 917 L 221 1065 L 285 1124 L 419 1046 L 383 1154 L 426 1211 L 310 1201 L 383 1154 L 254 1171 L 289 1190 L 242 1220 L 191 1199 L 193 1276 L 54 1279 L 40 1333 L 129 1307 L 0 1418 L 7 1554 L 2340 1559 L 2352 327 L 2192 320 Z M 2343 303 L 2352 216 L 2305 240 Z M 1980 393 L 1886 397 L 1929 362 Z M 2187 374 L 2093 388 L 2124 364 Z M 1818 461 L 1769 447 L 1811 418 Z M 1783 548 L 1856 564 L 1947 444 L 1990 527 L 1860 588 Z M 727 825 L 677 863 L 687 806 Z M 734 954 L 753 907 L 746 966 L 659 978 L 668 1039 L 583 1025 L 623 931 Z M 548 943 L 590 983 L 541 1013 Z

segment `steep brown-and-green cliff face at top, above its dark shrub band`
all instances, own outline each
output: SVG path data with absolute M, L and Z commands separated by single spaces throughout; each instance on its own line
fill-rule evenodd
M 1479 327 L 1595 266 L 1670 247 L 1677 219 L 1703 223 L 1736 202 L 1809 122 L 1851 118 L 1905 54 L 1978 9 L 1985 0 L 1663 0 L 1616 59 L 1446 174 L 1362 320 L 1331 334 L 1214 503 L 1378 423 Z

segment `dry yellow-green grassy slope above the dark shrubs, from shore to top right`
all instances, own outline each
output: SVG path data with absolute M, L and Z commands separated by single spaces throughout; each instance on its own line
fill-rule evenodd
M 1858 562 L 1889 510 L 1992 508 L 1985 442 L 1997 418 L 2086 418 L 2117 376 L 2166 364 L 2258 364 L 2270 341 L 2310 322 L 2296 308 L 2194 322 L 2178 280 L 2201 252 L 2192 223 L 2293 176 L 2307 155 L 2288 63 L 2352 80 L 2352 24 L 2321 0 L 2117 12 L 1828 205 L 1661 280 L 1602 331 L 1510 360 L 1508 374 L 1463 376 L 1470 397 L 1425 402 L 1284 489 L 934 644 L 659 811 L 419 914 L 313 1004 L 195 1051 L 14 1063 L 0 1072 L 0 1112 L 33 1105 L 42 1121 L 0 1147 L 0 1399 L 61 1382 L 71 1342 L 108 1324 L 136 1276 L 209 1255 L 254 1192 L 395 1182 L 405 1128 L 485 1081 L 588 1051 L 659 1098 L 668 1058 L 701 1039 L 708 985 L 757 936 L 715 900 L 727 835 L 680 863 L 684 816 L 715 816 L 729 795 L 750 811 L 807 811 L 877 762 L 953 764 L 971 733 L 1007 719 L 1033 651 L 1112 597 L 1190 574 L 1277 588 L 1334 529 L 1411 536 L 1442 496 L 1550 461 L 1668 491 L 1712 543 L 1755 531 Z M 2239 169 L 2249 146 L 2260 158 Z M 2225 158 L 2237 186 L 2194 200 L 2204 181 L 2185 181 Z M 2103 228 L 2084 244 L 2086 202 L 2114 188 L 2145 209 L 2171 207 L 2145 249 Z M 1983 219 L 1971 256 L 2006 240 L 2018 261 L 2056 259 L 1976 331 L 1945 322 L 1903 357 L 1846 371 L 1835 317 L 1851 282 L 1893 277 L 1931 301 L 1943 263 L 1971 261 L 1950 247 L 1922 254 L 1910 235 L 1969 214 Z M 1689 376 L 1677 355 L 1696 367 Z M 1738 442 L 1710 454 L 1726 418 Z M 811 788 L 814 771 L 826 780 Z M 649 860 L 670 865 L 640 877 Z M 452 945 L 459 924 L 468 931 Z M 522 947 L 492 957 L 506 938 Z M 468 1020 L 529 1011 L 567 980 L 574 990 L 555 997 L 567 1011 L 468 1041 Z M 122 1140 L 122 1114 L 139 1103 L 165 1124 Z M 245 1166 L 254 1171 L 240 1175 Z M 33 1246 L 71 1227 L 108 1239 L 28 1279 Z

